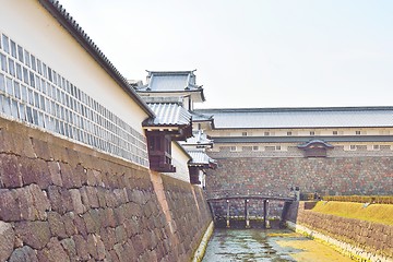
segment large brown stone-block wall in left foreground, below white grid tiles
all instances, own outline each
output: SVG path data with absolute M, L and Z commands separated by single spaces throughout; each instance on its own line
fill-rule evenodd
M 188 261 L 199 188 L 0 118 L 0 261 Z

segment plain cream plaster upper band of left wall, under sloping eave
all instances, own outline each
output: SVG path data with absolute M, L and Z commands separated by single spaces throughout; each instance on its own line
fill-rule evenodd
M 147 114 L 38 1 L 0 0 L 0 32 L 143 134 Z

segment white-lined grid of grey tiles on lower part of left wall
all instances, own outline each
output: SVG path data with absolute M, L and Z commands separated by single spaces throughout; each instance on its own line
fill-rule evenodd
M 148 166 L 144 135 L 0 35 L 1 114 Z

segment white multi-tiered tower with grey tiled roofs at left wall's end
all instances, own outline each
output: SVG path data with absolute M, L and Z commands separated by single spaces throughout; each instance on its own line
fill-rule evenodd
M 181 171 L 177 168 L 160 171 L 204 188 L 205 170 L 215 168 L 216 163 L 205 153 L 206 148 L 213 146 L 213 141 L 206 136 L 201 126 L 203 123 L 210 126 L 212 117 L 195 114 L 193 110 L 195 103 L 205 100 L 202 86 L 196 85 L 194 71 L 147 71 L 145 84 L 142 82 L 131 84 L 157 116 L 154 119 L 155 129 L 147 129 L 150 146 L 153 141 L 167 141 L 166 152 L 158 153 L 162 155 L 160 158 L 182 167 Z M 164 131 L 164 127 L 167 135 L 158 138 L 154 134 L 154 130 Z M 162 142 L 162 144 L 166 143 Z M 170 153 L 169 150 L 176 152 Z

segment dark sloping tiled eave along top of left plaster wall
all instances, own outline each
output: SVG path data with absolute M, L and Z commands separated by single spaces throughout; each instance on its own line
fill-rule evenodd
M 115 68 L 104 52 L 97 47 L 90 36 L 82 29 L 75 20 L 57 0 L 39 0 L 44 8 L 79 41 L 79 44 L 103 67 L 103 69 L 129 94 L 141 108 L 153 116 L 147 105 L 140 98 L 135 91 L 129 85 L 126 78 Z

